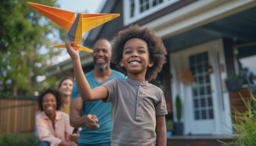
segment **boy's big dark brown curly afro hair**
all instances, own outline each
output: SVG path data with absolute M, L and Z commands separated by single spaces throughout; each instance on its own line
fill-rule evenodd
M 153 67 L 148 68 L 145 79 L 152 81 L 157 77 L 157 74 L 161 72 L 163 64 L 166 63 L 166 47 L 159 35 L 156 34 L 151 28 L 141 28 L 139 25 L 130 25 L 128 28 L 121 30 L 114 37 L 114 45 L 112 49 L 112 62 L 116 65 L 116 68 L 127 75 L 125 67 L 121 67 L 119 64 L 120 59 L 123 58 L 123 49 L 125 43 L 133 38 L 139 38 L 147 43 L 148 51 L 150 53 L 150 59 L 155 63 Z

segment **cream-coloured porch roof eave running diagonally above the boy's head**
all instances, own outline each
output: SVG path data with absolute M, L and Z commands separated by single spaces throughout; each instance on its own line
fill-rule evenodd
M 212 23 L 256 6 L 255 0 L 197 1 L 158 18 L 143 27 L 154 29 L 163 39 Z

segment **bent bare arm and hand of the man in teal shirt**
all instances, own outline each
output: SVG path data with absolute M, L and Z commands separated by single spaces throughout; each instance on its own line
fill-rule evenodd
M 86 126 L 88 129 L 91 130 L 99 128 L 99 125 L 96 123 L 98 122 L 98 118 L 96 115 L 88 114 L 81 116 L 83 104 L 84 102 L 80 97 L 71 99 L 70 125 L 76 128 Z

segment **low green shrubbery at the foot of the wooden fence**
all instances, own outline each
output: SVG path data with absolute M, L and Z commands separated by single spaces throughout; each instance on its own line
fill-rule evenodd
M 0 146 L 39 146 L 40 141 L 34 135 L 3 134 Z

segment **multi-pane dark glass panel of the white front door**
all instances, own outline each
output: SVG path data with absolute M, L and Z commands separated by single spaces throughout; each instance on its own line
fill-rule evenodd
M 208 52 L 189 56 L 189 68 L 195 76 L 192 84 L 195 120 L 214 118 L 208 64 Z

